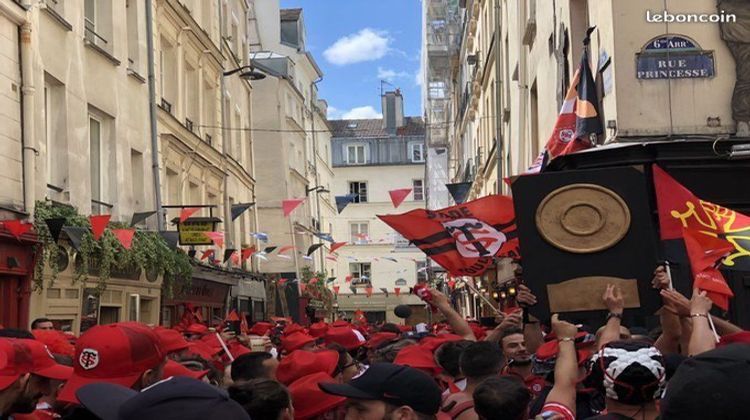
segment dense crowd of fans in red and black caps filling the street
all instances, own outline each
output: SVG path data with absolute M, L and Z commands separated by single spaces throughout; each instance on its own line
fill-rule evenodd
M 0 419 L 746 418 L 750 333 L 712 317 L 704 292 L 671 290 L 662 269 L 653 286 L 664 305 L 651 333 L 622 325 L 615 286 L 598 330 L 523 309 L 484 328 L 437 290 L 442 317 L 417 328 L 121 322 L 71 339 L 39 319 L 0 330 Z M 535 305 L 519 288 L 520 307 Z

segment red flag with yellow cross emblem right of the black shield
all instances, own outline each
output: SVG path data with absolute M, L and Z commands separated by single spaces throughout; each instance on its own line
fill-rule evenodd
M 727 267 L 733 267 L 738 258 L 750 257 L 746 239 L 750 216 L 701 200 L 657 165 L 653 172 L 661 239 L 681 238 L 683 228 L 689 228 L 726 238 L 734 245 L 732 255 L 724 259 Z

